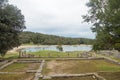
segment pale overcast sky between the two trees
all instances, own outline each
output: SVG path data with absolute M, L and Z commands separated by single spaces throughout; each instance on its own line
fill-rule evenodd
M 83 23 L 89 0 L 9 0 L 25 16 L 26 31 L 65 37 L 94 38 L 91 24 Z

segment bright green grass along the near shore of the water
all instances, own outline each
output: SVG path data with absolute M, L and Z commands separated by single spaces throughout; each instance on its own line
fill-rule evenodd
M 27 54 L 32 54 L 36 57 L 61 57 L 61 58 L 65 58 L 65 57 L 72 57 L 72 58 L 76 58 L 78 55 L 82 54 L 82 51 L 74 51 L 74 52 L 58 52 L 58 51 L 48 51 L 48 50 L 44 50 L 44 51 L 38 51 L 38 52 L 27 52 Z M 3 58 L 4 59 L 17 59 L 19 57 L 19 53 L 15 52 L 15 53 L 7 53 Z M 2 57 L 0 57 L 0 59 L 3 59 Z

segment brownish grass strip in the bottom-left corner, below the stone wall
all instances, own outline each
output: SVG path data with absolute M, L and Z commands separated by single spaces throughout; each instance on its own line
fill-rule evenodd
M 33 80 L 34 74 L 0 74 L 0 80 Z

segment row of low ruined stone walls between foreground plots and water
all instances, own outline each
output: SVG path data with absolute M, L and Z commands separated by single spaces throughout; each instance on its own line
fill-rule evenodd
M 71 52 L 66 52 L 66 55 L 63 57 L 61 55 L 56 54 L 56 56 L 52 56 L 51 53 L 47 53 L 46 56 L 43 56 L 41 54 L 39 55 L 34 55 L 34 54 L 29 54 L 26 53 L 26 51 L 20 51 L 19 52 L 19 58 L 88 58 L 88 57 L 93 57 L 93 53 L 92 52 L 77 52 L 76 55 L 74 57 L 70 56 L 70 54 L 72 54 Z

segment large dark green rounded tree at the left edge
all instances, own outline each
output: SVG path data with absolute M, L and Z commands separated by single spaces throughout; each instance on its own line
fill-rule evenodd
M 19 33 L 25 29 L 24 16 L 21 11 L 8 4 L 7 0 L 0 0 L 0 55 L 13 47 L 19 46 Z

